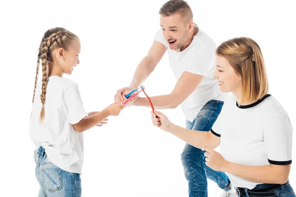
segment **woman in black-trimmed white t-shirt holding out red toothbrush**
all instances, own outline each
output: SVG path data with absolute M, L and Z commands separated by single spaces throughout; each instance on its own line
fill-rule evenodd
M 216 50 L 214 77 L 231 92 L 211 132 L 185 130 L 161 112 L 154 126 L 206 151 L 206 165 L 227 172 L 238 197 L 296 197 L 288 177 L 292 163 L 292 125 L 284 108 L 268 93 L 258 44 L 240 37 Z M 221 154 L 214 151 L 221 144 Z M 205 147 L 208 146 L 208 147 Z

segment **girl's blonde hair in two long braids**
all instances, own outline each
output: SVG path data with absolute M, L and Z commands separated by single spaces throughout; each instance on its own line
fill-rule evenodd
M 46 95 L 46 86 L 47 86 L 47 62 L 53 62 L 52 52 L 57 48 L 63 48 L 67 50 L 71 44 L 74 42 L 79 42 L 79 38 L 74 33 L 65 30 L 64 28 L 52 28 L 47 30 L 41 40 L 38 57 L 37 57 L 37 68 L 36 68 L 36 77 L 35 77 L 35 89 L 33 95 L 33 101 L 35 98 L 35 91 L 37 86 L 37 78 L 39 71 L 39 64 L 41 60 L 42 65 L 42 94 L 40 95 L 40 99 L 42 102 L 42 109 L 40 113 L 40 122 L 42 123 L 44 119 L 44 103 L 45 103 L 45 95 Z

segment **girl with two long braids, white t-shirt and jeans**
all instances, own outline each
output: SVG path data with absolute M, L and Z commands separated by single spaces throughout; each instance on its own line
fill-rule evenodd
M 72 74 L 80 63 L 79 53 L 80 41 L 74 33 L 63 28 L 44 33 L 38 53 L 29 129 L 37 146 L 39 197 L 81 196 L 82 132 L 106 124 L 108 116 L 117 116 L 125 106 L 114 103 L 101 112 L 84 111 L 77 84 L 62 78 L 64 73 Z M 40 60 L 42 82 L 37 83 Z

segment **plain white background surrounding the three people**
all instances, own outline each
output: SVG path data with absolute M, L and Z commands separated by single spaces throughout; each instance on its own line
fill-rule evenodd
M 165 2 L 1 1 L 1 197 L 36 197 L 39 190 L 33 156 L 35 147 L 28 128 L 43 33 L 63 27 L 79 36 L 80 65 L 71 76 L 64 77 L 78 84 L 86 111 L 102 110 L 113 102 L 117 89 L 131 82 L 136 66 L 147 54 L 159 29 L 158 10 Z M 188 3 L 194 22 L 218 45 L 238 36 L 248 36 L 258 42 L 268 72 L 269 93 L 282 103 L 295 127 L 293 0 L 188 0 Z M 175 83 L 165 55 L 144 85 L 151 97 L 170 93 Z M 180 107 L 161 111 L 173 123 L 185 126 Z M 125 108 L 118 117 L 111 117 L 108 125 L 86 131 L 84 140 L 82 196 L 187 196 L 180 161 L 185 142 L 153 127 L 149 108 Z M 295 143 L 295 137 L 293 141 Z M 292 164 L 290 181 L 296 188 L 295 164 Z M 209 197 L 218 197 L 222 192 L 210 180 L 208 185 Z

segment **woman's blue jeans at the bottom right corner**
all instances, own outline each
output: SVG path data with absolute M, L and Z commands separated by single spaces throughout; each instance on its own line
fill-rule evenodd
M 259 184 L 254 189 L 259 189 L 259 188 L 267 187 L 270 185 L 273 185 L 273 184 Z M 248 195 L 247 189 L 245 189 L 245 191 L 246 191 L 247 196 L 241 196 L 241 197 L 260 197 L 259 195 L 258 196 Z M 290 184 L 287 184 L 287 185 L 281 184 L 281 188 L 279 188 L 277 190 L 273 190 L 273 191 L 275 194 L 266 195 L 266 196 L 268 196 L 268 197 L 296 197 L 296 195 L 293 191 L 293 188 Z M 262 193 L 261 193 L 261 196 L 263 197 Z

